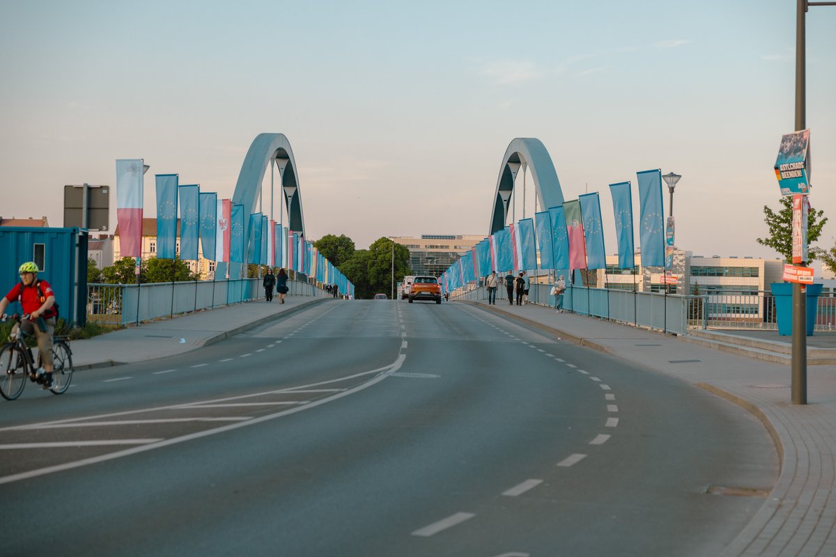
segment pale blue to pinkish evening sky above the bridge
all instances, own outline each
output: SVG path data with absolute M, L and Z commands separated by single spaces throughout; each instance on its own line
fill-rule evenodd
M 537 138 L 567 199 L 682 175 L 676 244 L 777 257 L 763 206 L 794 129 L 794 0 L 178 2 L 0 0 L 0 216 L 63 225 L 64 185 L 116 159 L 232 197 L 257 134 L 287 136 L 308 239 L 487 235 L 502 156 Z M 836 7 L 807 15 L 818 246 L 836 245 Z M 516 219 L 537 200 L 529 173 Z M 269 177 L 264 212 L 269 213 Z M 665 187 L 665 210 L 669 198 Z M 111 231 L 115 228 L 111 192 Z M 278 190 L 274 195 L 278 220 Z M 636 243 L 638 245 L 638 231 Z

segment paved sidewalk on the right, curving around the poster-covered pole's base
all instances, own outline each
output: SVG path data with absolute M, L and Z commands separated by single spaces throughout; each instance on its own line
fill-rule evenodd
M 836 366 L 808 366 L 808 404 L 793 405 L 786 365 L 595 317 L 557 313 L 547 306 L 511 306 L 502 300 L 496 306 L 464 303 L 679 377 L 750 410 L 775 440 L 781 473 L 752 522 L 723 554 L 836 554 Z M 836 344 L 836 336 L 809 339 L 815 339 L 814 346 Z

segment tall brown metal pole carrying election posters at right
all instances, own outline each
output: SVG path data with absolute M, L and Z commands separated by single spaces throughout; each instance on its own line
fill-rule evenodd
M 795 130 L 805 126 L 805 56 L 804 19 L 807 0 L 796 0 L 795 33 Z M 804 239 L 806 241 L 806 238 Z M 806 261 L 802 262 L 806 265 Z M 798 282 L 793 283 L 793 404 L 807 404 L 807 292 Z

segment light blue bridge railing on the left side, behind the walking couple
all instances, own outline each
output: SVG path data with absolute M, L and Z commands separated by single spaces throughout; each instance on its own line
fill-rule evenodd
M 318 286 L 288 280 L 288 296 L 330 296 Z M 262 279 L 88 284 L 87 320 L 125 326 L 264 297 Z

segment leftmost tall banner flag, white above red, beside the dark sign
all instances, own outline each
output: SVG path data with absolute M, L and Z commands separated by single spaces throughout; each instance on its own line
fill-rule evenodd
M 142 256 L 142 159 L 116 160 L 116 223 L 122 257 Z

